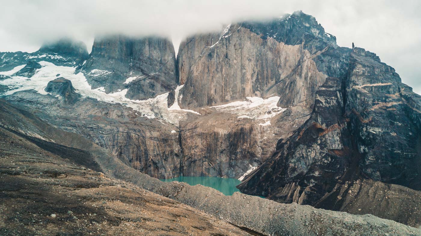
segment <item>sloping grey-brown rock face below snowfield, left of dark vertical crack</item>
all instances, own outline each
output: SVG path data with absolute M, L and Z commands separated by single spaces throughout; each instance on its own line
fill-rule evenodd
M 6 99 L 22 109 L 39 112 L 40 117 L 51 125 L 91 140 L 133 170 L 156 178 L 174 178 L 180 175 L 179 135 L 171 133 L 176 127 L 155 119 L 139 117 L 136 111 L 120 104 L 96 99 L 75 99 L 73 103 L 64 103 L 62 100 L 65 97 L 61 95 L 60 106 L 57 106 L 54 94 L 63 94 L 59 91 L 61 88 L 69 88 L 64 86 L 69 84 L 65 83 L 66 80 L 54 81 L 49 82 L 45 89 L 46 92 L 51 91 L 53 96 L 40 95 L 29 90 L 14 93 Z M 64 94 L 66 91 L 69 90 L 65 89 Z M 25 102 L 21 103 L 22 100 Z

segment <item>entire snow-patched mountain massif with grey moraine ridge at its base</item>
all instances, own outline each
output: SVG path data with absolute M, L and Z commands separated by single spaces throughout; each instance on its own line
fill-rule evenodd
M 260 233 L 329 235 L 329 224 L 341 225 L 331 235 L 418 232 L 357 215 L 420 227 L 421 96 L 301 11 L 192 35 L 177 58 L 165 38 L 124 35 L 96 37 L 89 55 L 61 40 L 0 58 L 0 125 L 11 140 L 26 135 L 61 158 L 82 150 L 75 163 L 85 168 Z M 242 193 L 266 200 L 142 173 L 240 178 Z M 289 223 L 271 228 L 276 209 Z M 307 211 L 322 220 L 293 227 Z M 347 217 L 360 223 L 344 229 Z

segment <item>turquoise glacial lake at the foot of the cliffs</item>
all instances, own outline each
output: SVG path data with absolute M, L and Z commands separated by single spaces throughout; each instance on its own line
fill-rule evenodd
M 177 178 L 172 179 L 163 179 L 161 181 L 164 182 L 173 182 L 179 181 L 188 183 L 191 186 L 195 186 L 197 184 L 207 186 L 210 188 L 215 188 L 216 190 L 220 191 L 224 195 L 232 195 L 235 192 L 239 192 L 238 188 L 235 186 L 241 183 L 240 180 L 231 179 L 231 178 L 221 178 L 221 177 L 187 177 L 187 176 L 180 176 Z

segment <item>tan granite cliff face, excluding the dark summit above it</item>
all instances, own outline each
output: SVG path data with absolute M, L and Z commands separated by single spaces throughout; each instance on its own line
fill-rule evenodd
M 241 24 L 230 25 L 219 38 L 212 37 L 208 42 L 187 74 L 183 107 L 216 106 L 246 97 L 273 95 L 280 95 L 281 107 L 298 103 L 311 106 L 314 88 L 326 78 L 312 60 L 316 54 L 312 55 L 303 45 L 285 45 L 270 37 L 262 39 Z

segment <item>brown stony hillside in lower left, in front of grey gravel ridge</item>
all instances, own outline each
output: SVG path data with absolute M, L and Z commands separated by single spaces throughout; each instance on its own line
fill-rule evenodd
M 251 235 L 108 178 L 87 151 L 3 127 L 0 148 L 1 235 Z

